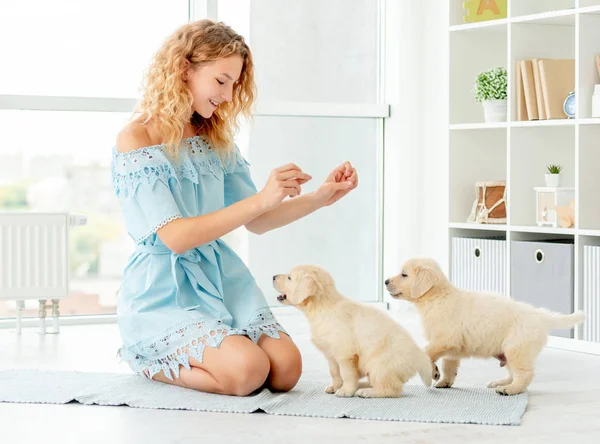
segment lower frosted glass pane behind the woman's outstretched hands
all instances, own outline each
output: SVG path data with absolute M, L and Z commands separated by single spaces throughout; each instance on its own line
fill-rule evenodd
M 357 168 L 359 187 L 331 207 L 261 236 L 249 236 L 246 256 L 270 303 L 272 276 L 299 264 L 317 264 L 334 277 L 349 298 L 377 298 L 377 129 L 379 119 L 257 117 L 250 132 L 249 162 L 259 189 L 270 171 L 296 163 L 313 179 L 314 191 L 346 160 Z

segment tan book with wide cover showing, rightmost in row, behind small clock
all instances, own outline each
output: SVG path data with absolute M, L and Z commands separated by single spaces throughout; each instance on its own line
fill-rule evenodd
M 575 60 L 542 59 L 539 71 L 546 118 L 566 118 L 563 106 L 569 93 L 575 90 Z

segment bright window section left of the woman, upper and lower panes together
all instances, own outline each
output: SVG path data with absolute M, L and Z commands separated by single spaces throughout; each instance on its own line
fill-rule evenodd
M 71 230 L 71 296 L 61 301 L 62 315 L 116 310 L 133 250 L 110 184 L 111 149 L 130 117 L 119 100 L 133 103 L 139 96 L 154 52 L 188 17 L 187 0 L 0 4 L 0 53 L 7 61 L 0 98 L 22 96 L 19 103 L 48 108 L 21 111 L 17 103 L 0 110 L 0 210 L 88 218 L 86 226 Z M 53 97 L 72 97 L 67 108 L 81 110 L 53 109 L 64 103 Z M 85 111 L 98 98 L 117 100 L 103 106 L 108 112 Z M 26 303 L 25 316 L 37 316 L 37 309 L 37 301 Z M 14 302 L 0 301 L 0 318 L 14 316 Z

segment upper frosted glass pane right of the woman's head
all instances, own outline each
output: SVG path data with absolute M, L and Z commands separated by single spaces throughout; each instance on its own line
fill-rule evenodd
M 218 14 L 243 35 L 249 22 L 260 100 L 374 103 L 378 3 L 225 0 Z

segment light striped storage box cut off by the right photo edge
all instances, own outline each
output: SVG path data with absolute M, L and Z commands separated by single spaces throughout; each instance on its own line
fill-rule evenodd
M 583 247 L 583 340 L 600 342 L 600 247 Z

